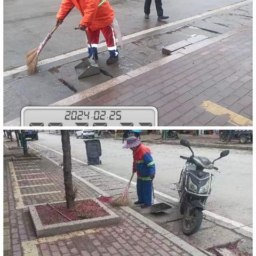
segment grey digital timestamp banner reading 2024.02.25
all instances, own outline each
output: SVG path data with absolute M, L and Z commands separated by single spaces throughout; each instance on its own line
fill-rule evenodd
M 25 107 L 22 126 L 157 126 L 155 107 Z

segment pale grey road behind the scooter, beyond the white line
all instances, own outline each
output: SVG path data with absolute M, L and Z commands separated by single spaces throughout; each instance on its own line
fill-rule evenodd
M 82 139 L 70 137 L 71 154 L 82 161 L 87 161 L 85 143 Z M 39 133 L 36 141 L 43 146 L 62 152 L 60 135 Z M 126 179 L 130 178 L 132 154 L 122 149 L 122 141 L 101 139 L 102 169 Z M 157 174 L 155 189 L 178 197 L 176 191 L 169 189 L 170 182 L 178 181 L 184 161 L 180 155 L 189 156 L 189 150 L 182 146 L 149 145 L 153 151 Z M 215 159 L 221 149 L 194 148 L 195 155 Z M 206 209 L 223 217 L 241 222 L 252 223 L 252 153 L 247 150 L 230 150 L 230 155 L 215 163 L 220 173 L 214 175 L 212 195 Z M 134 178 L 135 181 L 135 178 Z

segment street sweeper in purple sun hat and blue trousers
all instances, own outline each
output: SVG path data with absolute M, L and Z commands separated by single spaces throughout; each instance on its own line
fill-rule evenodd
M 134 204 L 142 204 L 141 208 L 147 208 L 152 204 L 152 181 L 156 173 L 150 149 L 136 137 L 128 138 L 123 148 L 133 151 L 133 172 L 137 172 L 138 195 L 138 201 Z

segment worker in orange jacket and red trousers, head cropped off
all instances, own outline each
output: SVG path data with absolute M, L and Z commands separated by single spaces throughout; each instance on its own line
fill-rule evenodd
M 57 13 L 57 25 L 63 22 L 66 14 L 74 6 L 81 12 L 82 20 L 79 23 L 81 30 L 87 30 L 95 59 L 98 59 L 97 47 L 99 44 L 100 31 L 106 39 L 110 54 L 107 64 L 113 64 L 118 60 L 118 50 L 116 35 L 111 24 L 115 18 L 115 13 L 107 0 L 62 0 L 60 10 Z M 92 56 L 88 47 L 89 57 Z

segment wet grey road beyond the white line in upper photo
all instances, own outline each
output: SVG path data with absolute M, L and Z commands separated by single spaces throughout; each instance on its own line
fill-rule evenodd
M 115 10 L 122 34 L 129 35 L 239 1 L 163 0 L 164 14 L 170 16 L 166 21 L 157 21 L 154 1 L 149 20 L 144 19 L 143 0 L 109 2 Z M 26 52 L 37 47 L 55 26 L 55 15 L 60 3 L 60 0 L 34 0 L 33 4 L 29 0 L 4 1 L 4 70 L 25 65 Z M 74 30 L 80 19 L 81 14 L 74 9 L 47 43 L 40 58 L 50 58 L 85 47 L 85 37 L 80 31 Z

